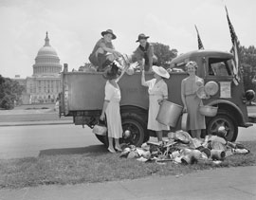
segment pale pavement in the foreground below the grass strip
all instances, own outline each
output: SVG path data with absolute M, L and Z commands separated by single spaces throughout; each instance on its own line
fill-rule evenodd
M 256 199 L 256 166 L 200 171 L 180 176 L 0 190 L 0 200 L 16 199 Z

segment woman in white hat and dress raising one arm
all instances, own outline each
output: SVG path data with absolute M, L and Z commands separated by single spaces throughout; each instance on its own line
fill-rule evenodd
M 158 141 L 162 141 L 163 130 L 170 130 L 169 126 L 163 125 L 156 120 L 160 103 L 168 99 L 168 87 L 163 79 L 169 79 L 170 74 L 162 66 L 152 66 L 154 77 L 148 82 L 145 81 L 144 64 L 142 64 L 141 84 L 149 87 L 149 118 L 148 129 L 156 132 Z

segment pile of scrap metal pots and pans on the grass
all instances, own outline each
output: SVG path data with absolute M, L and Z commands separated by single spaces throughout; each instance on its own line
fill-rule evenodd
M 120 157 L 136 158 L 139 161 L 193 164 L 197 162 L 221 163 L 225 157 L 234 154 L 248 154 L 241 143 L 227 141 L 224 135 L 206 136 L 204 141 L 192 138 L 184 131 L 171 132 L 163 142 L 146 142 L 137 148 L 129 145 L 123 148 Z

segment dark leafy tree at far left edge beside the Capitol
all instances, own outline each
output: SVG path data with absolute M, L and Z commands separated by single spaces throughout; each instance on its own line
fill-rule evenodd
M 14 101 L 20 100 L 24 90 L 24 86 L 20 85 L 19 82 L 0 75 L 0 108 L 12 109 Z

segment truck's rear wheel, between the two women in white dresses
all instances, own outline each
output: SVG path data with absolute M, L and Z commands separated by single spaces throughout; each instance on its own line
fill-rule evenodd
M 130 136 L 127 136 L 127 138 L 122 138 L 122 142 L 141 146 L 145 140 L 148 140 L 146 123 L 137 113 L 122 113 L 121 122 L 123 132 L 128 131 L 130 133 Z

